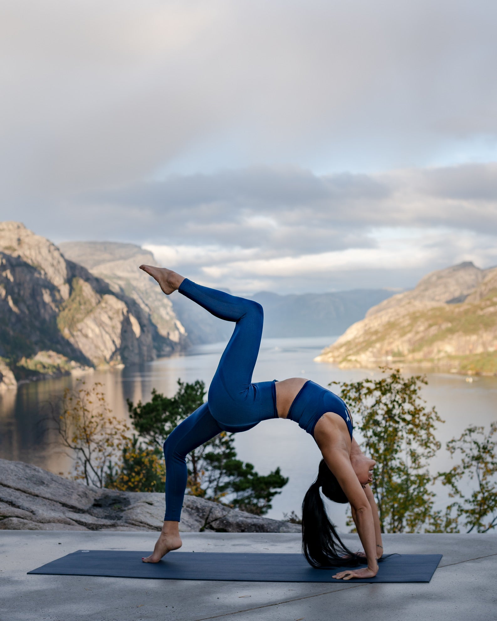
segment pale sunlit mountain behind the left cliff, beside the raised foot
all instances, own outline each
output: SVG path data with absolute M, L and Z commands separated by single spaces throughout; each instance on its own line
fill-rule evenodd
M 59 248 L 66 258 L 109 283 L 112 291 L 129 296 L 139 304 L 162 337 L 162 340 L 155 339 L 158 355 L 185 348 L 186 330 L 170 298 L 163 294 L 155 280 L 139 270 L 142 263 L 157 265 L 151 252 L 133 243 L 117 242 L 63 242 Z

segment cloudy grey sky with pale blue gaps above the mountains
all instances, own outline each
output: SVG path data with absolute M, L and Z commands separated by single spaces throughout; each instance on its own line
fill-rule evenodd
M 0 0 L 0 219 L 240 294 L 497 265 L 497 3 Z

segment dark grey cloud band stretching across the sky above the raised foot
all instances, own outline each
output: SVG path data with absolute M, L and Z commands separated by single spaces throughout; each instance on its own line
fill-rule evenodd
M 81 204 L 166 218 L 169 236 L 275 248 L 370 245 L 371 227 L 455 227 L 497 233 L 497 165 L 315 175 L 269 166 L 171 175 L 85 196 Z M 139 222 L 137 222 L 139 225 Z M 149 232 L 163 236 L 163 230 Z M 340 241 L 341 240 L 341 241 Z

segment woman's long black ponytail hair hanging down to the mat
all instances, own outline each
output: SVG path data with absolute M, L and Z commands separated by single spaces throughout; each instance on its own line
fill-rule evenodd
M 331 501 L 349 502 L 337 478 L 321 460 L 317 479 L 309 487 L 302 503 L 302 550 L 308 563 L 319 569 L 365 564 L 364 556 L 350 551 L 330 522 L 319 493 L 320 487 Z

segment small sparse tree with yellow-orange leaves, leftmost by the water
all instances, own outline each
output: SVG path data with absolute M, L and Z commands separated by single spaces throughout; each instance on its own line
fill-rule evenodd
M 129 425 L 111 416 L 104 393 L 96 383 L 91 388 L 81 382 L 79 388 L 66 388 L 60 408 L 52 405 L 52 418 L 63 445 L 73 451 L 75 474 L 87 485 L 104 487 L 106 471 L 119 461 L 128 441 Z

